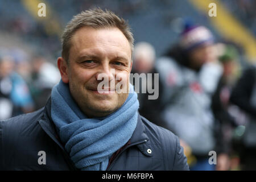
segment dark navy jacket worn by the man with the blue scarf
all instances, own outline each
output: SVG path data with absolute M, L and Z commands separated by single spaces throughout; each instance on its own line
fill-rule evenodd
M 51 100 L 42 109 L 0 122 L 0 170 L 78 170 L 51 120 Z M 42 152 L 45 163 L 42 163 Z M 188 170 L 179 139 L 138 117 L 137 127 L 107 170 Z

